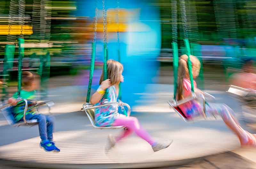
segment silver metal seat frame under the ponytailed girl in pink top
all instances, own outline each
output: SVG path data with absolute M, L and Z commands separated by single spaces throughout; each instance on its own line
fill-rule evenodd
M 204 92 L 204 95 L 205 96 L 209 96 L 211 97 L 212 99 L 215 99 L 214 96 Z M 170 101 L 168 100 L 167 103 L 172 107 L 172 109 L 178 113 L 178 115 L 180 116 L 181 119 L 183 119 L 185 122 L 195 122 L 195 121 L 199 121 L 199 120 L 202 120 L 201 116 L 200 117 L 197 117 L 193 120 L 191 119 L 187 119 L 187 117 L 185 116 L 185 114 L 180 110 L 179 108 L 179 105 L 181 104 L 184 104 L 184 103 L 187 103 L 191 100 L 195 100 L 196 98 L 200 97 L 203 99 L 203 118 L 206 119 L 206 113 L 205 113 L 205 103 L 206 103 L 206 100 L 205 100 L 205 97 L 202 93 L 199 93 L 199 96 L 197 96 L 195 93 L 192 93 L 192 96 L 191 97 L 187 97 L 185 99 L 182 99 L 182 100 L 179 100 L 179 101 L 176 101 L 173 99 L 173 101 Z

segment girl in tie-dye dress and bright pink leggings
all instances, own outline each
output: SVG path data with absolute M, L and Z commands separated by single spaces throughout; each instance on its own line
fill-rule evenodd
M 104 72 L 102 71 L 100 77 L 100 87 L 95 92 L 90 102 L 95 105 L 103 104 L 104 100 L 108 102 L 116 102 L 119 93 L 119 83 L 124 81 L 123 65 L 115 60 L 107 61 L 108 79 L 104 79 Z M 104 96 L 107 92 L 107 96 Z M 170 146 L 172 142 L 166 143 L 156 142 L 143 128 L 135 117 L 126 117 L 123 114 L 118 113 L 118 106 L 106 106 L 95 109 L 95 123 L 97 126 L 125 126 L 126 130 L 118 137 L 114 138 L 108 136 L 108 144 L 106 146 L 106 153 L 115 146 L 117 142 L 135 132 L 140 138 L 147 141 L 154 151 L 159 151 Z

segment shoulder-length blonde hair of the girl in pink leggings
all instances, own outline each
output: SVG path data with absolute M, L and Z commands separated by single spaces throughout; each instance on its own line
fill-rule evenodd
M 121 75 L 124 70 L 123 65 L 115 60 L 109 59 L 107 61 L 107 70 L 108 70 L 108 79 L 110 79 L 111 85 L 119 84 L 121 81 Z M 100 82 L 104 81 L 104 69 L 102 69 L 102 73 L 100 76 Z

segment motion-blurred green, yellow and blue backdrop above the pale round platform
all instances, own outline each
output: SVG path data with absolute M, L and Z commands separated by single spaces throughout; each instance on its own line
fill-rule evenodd
M 131 104 L 135 104 L 137 98 L 132 93 L 143 93 L 145 84 L 172 83 L 171 42 L 174 24 L 178 27 L 179 54 L 184 53 L 184 24 L 181 19 L 184 11 L 179 1 L 176 2 L 177 11 L 172 10 L 174 2 L 105 2 L 108 56 L 118 60 L 120 51 L 125 77 L 123 99 Z M 193 54 L 202 58 L 203 62 L 199 85 L 225 90 L 230 75 L 239 72 L 241 59 L 254 57 L 255 2 L 184 2 L 188 37 L 194 44 Z M 23 4 L 24 7 L 21 7 L 18 0 L 1 0 L 1 71 L 3 75 L 9 75 L 8 78 L 3 76 L 3 97 L 17 87 L 20 36 L 24 38 L 22 68 L 39 72 L 46 89 L 52 86 L 88 85 L 92 40 L 96 35 L 93 86 L 97 85 L 103 61 L 102 2 L 35 0 L 24 1 Z M 177 22 L 172 20 L 173 12 L 177 14 Z M 15 45 L 15 50 L 10 49 L 9 52 L 6 44 Z M 4 58 L 8 63 L 13 63 L 5 66 Z M 49 83 L 49 78 L 54 81 L 50 80 Z

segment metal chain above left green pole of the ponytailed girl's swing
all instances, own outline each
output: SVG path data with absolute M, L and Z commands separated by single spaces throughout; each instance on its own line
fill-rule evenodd
M 172 42 L 178 43 L 177 0 L 172 0 Z

